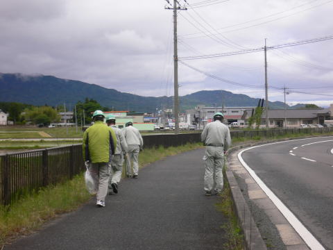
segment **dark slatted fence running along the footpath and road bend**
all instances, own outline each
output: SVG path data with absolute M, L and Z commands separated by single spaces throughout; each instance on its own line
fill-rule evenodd
M 293 128 L 259 131 L 231 131 L 232 138 L 274 137 L 287 133 L 330 133 L 333 128 Z M 145 135 L 144 148 L 177 147 L 200 142 L 200 132 Z M 23 194 L 33 194 L 47 185 L 63 183 L 85 169 L 81 144 L 8 153 L 0 156 L 0 204 L 10 205 Z

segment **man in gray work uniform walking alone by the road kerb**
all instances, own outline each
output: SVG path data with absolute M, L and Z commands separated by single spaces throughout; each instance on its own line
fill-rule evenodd
M 225 151 L 231 145 L 230 131 L 223 124 L 223 114 L 215 113 L 214 122 L 207 124 L 201 133 L 201 141 L 206 145 L 205 160 L 205 192 L 207 196 L 212 195 L 215 173 L 216 186 L 214 191 L 221 194 L 223 189 L 223 165 Z

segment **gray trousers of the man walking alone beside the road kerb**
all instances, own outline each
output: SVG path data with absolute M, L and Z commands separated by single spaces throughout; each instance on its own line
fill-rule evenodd
M 223 147 L 206 146 L 205 152 L 205 191 L 212 191 L 215 174 L 215 192 L 221 192 L 223 189 L 223 165 L 224 151 Z

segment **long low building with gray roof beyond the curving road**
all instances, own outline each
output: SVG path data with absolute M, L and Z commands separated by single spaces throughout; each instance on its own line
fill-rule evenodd
M 262 114 L 262 125 L 265 122 L 265 111 Z M 287 109 L 287 110 L 268 110 L 269 127 L 299 128 L 300 124 L 324 124 L 326 119 L 330 119 L 330 108 L 322 109 Z

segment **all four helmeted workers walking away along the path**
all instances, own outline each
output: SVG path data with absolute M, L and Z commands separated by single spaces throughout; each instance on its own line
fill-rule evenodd
M 132 122 L 127 122 L 123 129 L 117 128 L 116 118 L 113 115 L 105 118 L 101 110 L 96 110 L 92 118 L 94 124 L 83 134 L 83 158 L 99 183 L 96 205 L 104 207 L 108 192 L 118 193 L 124 158 L 127 159 L 126 175 L 138 178 L 138 156 L 143 140 Z M 213 119 L 214 122 L 207 124 L 201 133 L 201 140 L 206 145 L 204 190 L 207 196 L 213 192 L 221 194 L 223 190 L 224 156 L 231 144 L 229 128 L 223 124 L 223 113 L 215 113 Z

